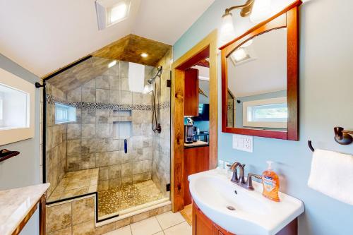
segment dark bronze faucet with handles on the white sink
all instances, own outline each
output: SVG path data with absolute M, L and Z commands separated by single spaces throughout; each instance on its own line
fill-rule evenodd
M 227 165 L 227 167 L 230 167 L 229 169 L 233 171 L 233 176 L 230 181 L 233 183 L 237 183 L 237 185 L 246 188 L 247 190 L 253 190 L 253 179 L 252 177 L 255 177 L 257 179 L 262 179 L 263 177 L 258 175 L 258 174 L 248 174 L 248 178 L 245 181 L 244 177 L 244 167 L 245 164 L 241 164 L 240 162 L 234 162 L 232 165 Z M 239 176 L 238 176 L 238 171 L 237 168 L 239 167 Z

